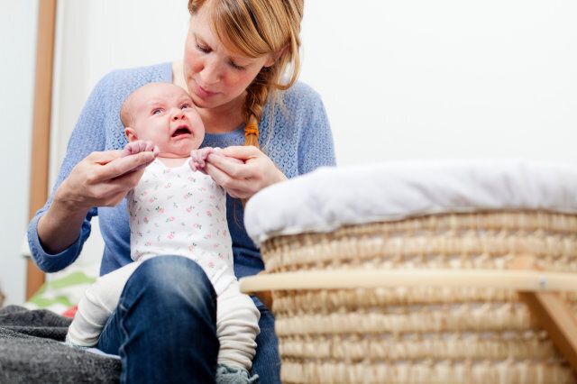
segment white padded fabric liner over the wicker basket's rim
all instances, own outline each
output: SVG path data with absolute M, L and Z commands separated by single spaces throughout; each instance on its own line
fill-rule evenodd
M 577 166 L 528 160 L 426 160 L 320 168 L 275 184 L 246 205 L 257 244 L 346 224 L 491 210 L 577 213 Z

